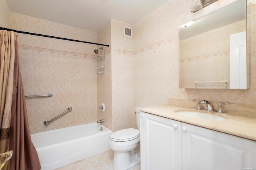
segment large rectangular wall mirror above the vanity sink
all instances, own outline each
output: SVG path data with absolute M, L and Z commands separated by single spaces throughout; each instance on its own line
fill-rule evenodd
M 246 8 L 237 0 L 179 27 L 180 88 L 249 88 Z

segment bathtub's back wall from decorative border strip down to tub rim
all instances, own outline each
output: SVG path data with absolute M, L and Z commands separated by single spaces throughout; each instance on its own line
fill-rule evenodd
M 96 122 L 97 76 L 94 56 L 19 45 L 20 70 L 31 133 Z M 72 107 L 72 111 L 50 121 Z

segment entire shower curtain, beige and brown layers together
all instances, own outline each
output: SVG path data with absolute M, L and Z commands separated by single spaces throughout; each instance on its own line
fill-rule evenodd
M 13 31 L 0 30 L 0 45 L 0 152 L 13 150 L 3 170 L 40 170 L 28 127 L 17 35 Z

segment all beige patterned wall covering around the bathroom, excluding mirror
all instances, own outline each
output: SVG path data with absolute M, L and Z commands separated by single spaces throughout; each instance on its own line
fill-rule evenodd
M 250 89 L 179 88 L 178 26 L 234 0 L 219 0 L 195 13 L 189 10 L 190 1 L 170 0 L 134 26 L 111 20 L 98 34 L 10 12 L 12 29 L 110 45 L 104 48 L 106 75 L 101 76 L 94 69 L 93 50 L 97 45 L 18 35 L 25 94 L 54 95 L 26 99 L 31 132 L 91 123 L 101 118 L 114 131 L 134 127 L 134 107 L 166 104 L 168 98 L 254 106 L 255 4 L 250 9 Z M 1 12 L 2 6 L 1 1 Z M 122 36 L 123 26 L 133 29 L 132 38 Z M 105 113 L 98 110 L 102 102 L 108 106 Z M 68 106 L 73 107 L 72 112 L 47 127 L 43 125 L 45 119 L 52 119 Z

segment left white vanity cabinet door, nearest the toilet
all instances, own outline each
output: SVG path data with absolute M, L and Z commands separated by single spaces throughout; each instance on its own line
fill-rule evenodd
M 142 170 L 181 170 L 181 122 L 142 114 Z

